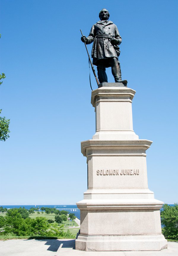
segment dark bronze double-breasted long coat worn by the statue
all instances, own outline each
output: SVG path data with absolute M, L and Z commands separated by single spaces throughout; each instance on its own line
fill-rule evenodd
M 91 28 L 90 34 L 87 37 L 87 44 L 93 42 L 94 38 L 100 34 L 108 35 L 112 38 L 119 40 L 118 45 L 122 42 L 122 38 L 119 34 L 117 26 L 112 22 L 108 21 L 103 23 L 101 21 L 96 22 Z M 97 65 L 97 61 L 100 59 L 107 59 L 109 57 L 116 57 L 117 53 L 114 49 L 114 46 L 110 43 L 111 39 L 109 38 L 96 38 L 96 57 L 93 57 L 93 64 Z

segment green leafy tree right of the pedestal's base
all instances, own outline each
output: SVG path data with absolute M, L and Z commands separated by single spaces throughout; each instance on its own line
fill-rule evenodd
M 161 215 L 162 232 L 165 238 L 178 239 L 178 204 L 163 205 Z

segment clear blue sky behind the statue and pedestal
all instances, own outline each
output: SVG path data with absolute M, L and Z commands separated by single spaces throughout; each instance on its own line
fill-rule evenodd
M 10 138 L 0 143 L 1 205 L 83 199 L 80 141 L 95 133 L 95 112 L 80 29 L 88 36 L 102 8 L 123 39 L 122 78 L 136 90 L 134 131 L 153 141 L 149 188 L 156 199 L 178 201 L 177 0 L 1 0 L 0 108 L 11 121 Z

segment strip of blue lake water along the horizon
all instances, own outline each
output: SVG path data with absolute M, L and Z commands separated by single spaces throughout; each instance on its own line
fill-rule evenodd
M 3 208 L 11 209 L 11 208 L 20 208 L 20 207 L 25 207 L 27 210 L 29 210 L 31 207 L 35 207 L 35 205 L 0 205 Z M 58 210 L 65 210 L 68 211 L 69 213 L 74 213 L 75 216 L 80 219 L 80 210 L 77 208 L 77 205 L 36 205 L 36 207 L 41 208 L 41 207 L 49 207 L 49 208 L 56 208 Z M 173 206 L 173 205 L 170 205 Z M 160 209 L 162 211 L 163 208 Z

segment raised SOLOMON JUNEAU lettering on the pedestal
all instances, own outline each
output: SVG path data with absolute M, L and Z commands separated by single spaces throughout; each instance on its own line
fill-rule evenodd
M 139 175 L 140 172 L 139 172 L 139 169 L 122 169 L 121 171 L 119 171 L 119 169 L 107 169 L 107 170 L 97 170 L 96 171 L 96 174 L 97 175 L 103 175 L 103 176 L 110 176 L 110 175 Z

